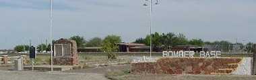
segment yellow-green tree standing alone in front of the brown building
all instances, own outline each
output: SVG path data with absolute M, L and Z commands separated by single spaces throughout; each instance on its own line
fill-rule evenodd
M 115 53 L 118 51 L 117 43 L 121 43 L 121 37 L 117 35 L 108 35 L 105 37 L 102 44 L 102 51 L 108 54 L 108 59 L 117 59 L 117 54 Z

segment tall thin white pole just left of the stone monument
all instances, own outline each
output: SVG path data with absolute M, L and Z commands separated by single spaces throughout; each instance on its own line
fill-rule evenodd
M 53 0 L 50 0 L 51 71 L 53 71 Z

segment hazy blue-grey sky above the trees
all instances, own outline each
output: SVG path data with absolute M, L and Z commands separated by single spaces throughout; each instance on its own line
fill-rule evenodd
M 153 0 L 154 1 L 154 0 Z M 155 2 L 155 1 L 154 1 Z M 53 37 L 119 35 L 132 42 L 150 33 L 144 0 L 53 0 Z M 152 7 L 152 32 L 188 39 L 256 43 L 255 0 L 160 0 Z M 49 0 L 0 0 L 0 49 L 46 43 Z

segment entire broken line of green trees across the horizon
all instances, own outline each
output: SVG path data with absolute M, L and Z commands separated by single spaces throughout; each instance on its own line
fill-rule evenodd
M 234 43 L 231 43 L 230 41 L 203 41 L 202 39 L 188 39 L 184 34 L 182 33 L 152 33 L 152 46 L 153 47 L 163 47 L 164 49 L 170 49 L 170 47 L 176 47 L 177 45 L 196 45 L 198 47 L 203 47 L 205 45 L 215 45 L 216 47 L 220 49 L 226 49 L 231 50 Z M 121 37 L 118 35 L 108 35 L 104 37 L 104 39 L 101 39 L 100 37 L 94 37 L 88 41 L 82 36 L 75 35 L 73 37 L 70 37 L 69 39 L 72 39 L 77 42 L 78 48 L 84 48 L 84 47 L 112 47 L 113 45 L 117 45 L 117 43 L 121 43 Z M 110 44 L 109 44 L 110 43 Z M 146 35 L 146 37 L 140 37 L 133 41 L 133 43 L 144 43 L 146 45 L 150 45 L 150 35 Z M 112 45 L 111 45 L 112 44 Z M 237 45 L 243 45 L 243 43 L 235 43 Z M 247 43 L 246 45 L 241 46 L 242 49 L 245 49 L 247 51 L 252 51 L 254 43 Z M 25 48 L 24 48 L 25 47 Z M 28 45 L 17 45 L 15 48 L 15 51 L 21 52 L 21 51 L 28 51 L 29 46 Z M 51 45 L 50 44 L 40 44 L 36 47 L 38 51 L 51 51 Z M 115 51 L 115 50 L 112 50 Z

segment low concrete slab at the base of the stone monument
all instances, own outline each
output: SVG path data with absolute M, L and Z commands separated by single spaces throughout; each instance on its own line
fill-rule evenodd
M 67 71 L 79 67 L 79 65 L 53 65 L 53 71 Z M 25 70 L 32 70 L 32 66 L 25 66 Z M 34 70 L 51 71 L 51 65 L 35 65 Z

